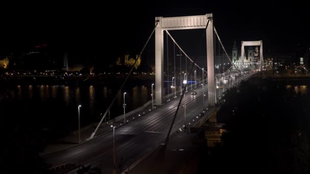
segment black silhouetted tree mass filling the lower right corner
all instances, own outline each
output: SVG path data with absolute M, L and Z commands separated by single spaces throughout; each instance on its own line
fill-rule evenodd
M 252 83 L 227 91 L 217 114 L 226 132 L 210 165 L 219 173 L 308 173 L 310 96 L 272 81 Z

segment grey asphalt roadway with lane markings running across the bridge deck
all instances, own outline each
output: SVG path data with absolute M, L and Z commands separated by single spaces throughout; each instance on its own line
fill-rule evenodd
M 239 80 L 237 78 L 230 78 L 224 84 L 224 88 L 217 89 L 217 96 L 221 96 L 229 86 L 235 85 Z M 190 86 L 188 86 L 188 90 L 190 90 Z M 190 126 L 198 121 L 203 103 L 202 85 L 197 86 L 193 90 L 197 91 L 197 95 L 191 95 L 190 91 L 186 93 L 182 105 L 178 110 L 171 134 L 179 128 L 183 128 L 185 122 Z M 205 94 L 204 108 L 206 108 L 208 106 L 208 85 L 204 84 L 203 91 Z M 133 120 L 115 130 L 116 167 L 118 171 L 123 171 L 129 167 L 144 154 L 155 149 L 166 138 L 179 99 L 180 97 L 177 97 L 167 104 L 143 115 L 143 117 Z M 186 102 L 187 106 L 186 121 L 183 107 L 184 102 Z M 114 159 L 113 131 L 88 143 L 84 143 L 81 146 L 46 155 L 44 158 L 51 166 L 65 163 L 72 163 L 74 165 L 91 164 L 92 166 L 101 168 L 102 173 L 112 173 Z M 73 172 L 76 173 L 76 170 L 73 170 Z

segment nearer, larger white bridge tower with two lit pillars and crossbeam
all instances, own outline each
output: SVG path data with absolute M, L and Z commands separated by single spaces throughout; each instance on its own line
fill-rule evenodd
M 183 17 L 155 17 L 155 103 L 162 105 L 164 99 L 164 30 L 189 30 L 206 28 L 206 61 L 208 68 L 208 98 L 209 105 L 216 103 L 215 73 L 214 73 L 214 27 L 213 15 Z

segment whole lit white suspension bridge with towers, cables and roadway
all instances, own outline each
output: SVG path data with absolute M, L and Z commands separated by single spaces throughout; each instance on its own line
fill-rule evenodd
M 87 138 L 87 142 L 43 157 L 51 165 L 51 171 L 58 172 L 60 171 L 58 168 L 66 169 L 65 166 L 70 164 L 70 171 L 66 172 L 76 172 L 81 165 L 92 164 L 100 166 L 104 173 L 112 173 L 116 170 L 122 172 L 160 144 L 169 143 L 169 137 L 176 131 L 183 131 L 184 127 L 197 124 L 202 116 L 200 113 L 208 112 L 214 107 L 226 90 L 253 74 L 263 71 L 263 42 L 243 41 L 240 56 L 236 49 L 233 49 L 229 56 L 214 26 L 213 14 L 156 17 L 154 23 L 155 27 L 139 57 L 154 34 L 156 69 L 154 104 L 156 107 L 150 107 L 150 112 L 146 114 L 136 113 L 127 117 L 127 121 L 116 120 L 111 124 L 115 131 L 111 128 L 111 131 L 97 135 L 97 130 L 106 118 L 117 94 L 97 128 Z M 205 62 L 200 65 L 196 62 L 197 54 L 191 57 L 186 53 L 186 47 L 179 45 L 177 39 L 169 33 L 172 30 L 191 29 L 203 29 L 199 44 L 206 43 L 206 55 Z M 166 44 L 164 44 L 165 33 Z M 172 44 L 169 43 L 173 46 L 171 47 Z M 254 52 L 249 51 L 246 56 L 245 46 L 260 48 L 260 52 L 256 51 L 256 59 L 254 59 Z M 169 52 L 173 52 L 173 56 L 170 56 Z M 179 56 L 179 65 L 177 56 Z M 119 91 L 131 75 L 135 64 L 128 72 Z M 170 68 L 169 65 L 171 65 Z M 166 88 L 166 94 L 164 88 Z

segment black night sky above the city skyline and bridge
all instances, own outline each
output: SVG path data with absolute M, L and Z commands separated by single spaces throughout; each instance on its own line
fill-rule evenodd
M 206 13 L 213 13 L 215 27 L 227 50 L 231 49 L 234 40 L 238 44 L 242 40 L 263 40 L 264 52 L 271 53 L 291 52 L 298 43 L 307 47 L 310 43 L 310 8 L 303 2 L 157 2 L 2 6 L 0 53 L 27 51 L 33 45 L 47 43 L 51 50 L 71 52 L 78 60 L 88 56 L 109 60 L 125 52 L 139 53 L 154 26 L 155 16 Z M 202 30 L 173 31 L 171 34 L 185 50 L 193 53 L 193 45 L 200 39 Z M 153 56 L 154 39 L 150 42 L 146 57 Z

